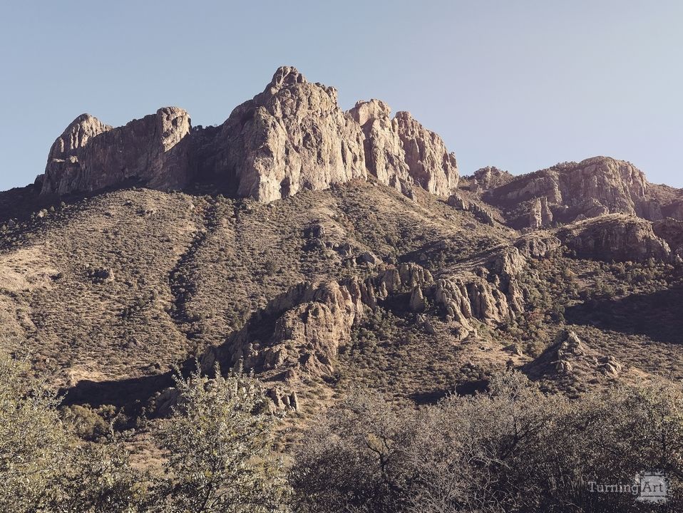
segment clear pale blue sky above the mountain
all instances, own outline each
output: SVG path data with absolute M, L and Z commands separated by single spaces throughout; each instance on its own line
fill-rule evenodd
M 409 110 L 462 175 L 609 155 L 683 187 L 681 26 L 681 0 L 3 0 L 0 190 L 81 113 L 220 124 L 282 65 Z

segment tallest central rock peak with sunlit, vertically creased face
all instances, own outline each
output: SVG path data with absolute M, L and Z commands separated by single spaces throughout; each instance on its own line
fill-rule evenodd
M 362 130 L 337 105 L 337 90 L 289 66 L 232 111 L 199 158 L 202 173 L 262 202 L 367 174 Z

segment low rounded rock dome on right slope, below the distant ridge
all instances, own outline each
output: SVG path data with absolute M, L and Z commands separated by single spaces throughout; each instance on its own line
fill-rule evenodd
M 670 261 L 672 252 L 652 223 L 635 216 L 607 214 L 570 224 L 556 232 L 577 257 L 602 261 Z

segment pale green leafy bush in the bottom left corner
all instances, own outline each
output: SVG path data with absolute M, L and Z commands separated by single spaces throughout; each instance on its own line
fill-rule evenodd
M 120 440 L 86 444 L 24 360 L 0 352 L 0 511 L 133 512 L 138 476 Z

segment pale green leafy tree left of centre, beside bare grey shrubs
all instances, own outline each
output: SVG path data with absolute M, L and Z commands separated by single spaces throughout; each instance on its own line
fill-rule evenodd
M 176 387 L 178 407 L 156 435 L 168 459 L 153 510 L 286 511 L 287 483 L 269 454 L 275 418 L 257 380 L 217 370 L 178 377 Z

